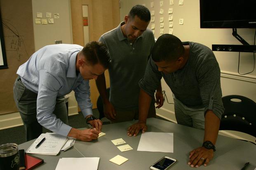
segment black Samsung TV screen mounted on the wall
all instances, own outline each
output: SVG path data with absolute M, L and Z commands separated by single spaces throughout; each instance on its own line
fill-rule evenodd
M 201 28 L 256 28 L 256 0 L 200 0 Z

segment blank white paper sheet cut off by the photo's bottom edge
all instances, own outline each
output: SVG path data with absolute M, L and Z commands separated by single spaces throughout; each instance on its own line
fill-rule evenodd
M 99 158 L 61 158 L 55 170 L 97 170 Z

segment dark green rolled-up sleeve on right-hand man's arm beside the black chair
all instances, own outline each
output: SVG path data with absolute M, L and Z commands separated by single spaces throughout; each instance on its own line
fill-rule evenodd
M 221 71 L 218 62 L 215 59 L 209 59 L 203 62 L 197 69 L 197 80 L 204 105 L 204 114 L 207 110 L 212 110 L 219 119 L 221 119 L 221 115 L 224 113 L 221 99 L 220 74 Z

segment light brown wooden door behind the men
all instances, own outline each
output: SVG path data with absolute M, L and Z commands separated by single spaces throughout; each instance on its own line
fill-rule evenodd
M 82 5 L 88 5 L 89 41 L 97 41 L 99 37 L 116 28 L 120 23 L 119 0 L 70 0 L 73 44 L 84 44 Z M 110 86 L 108 70 L 105 71 L 106 85 Z M 90 80 L 91 100 L 93 108 L 96 108 L 96 101 L 99 92 L 95 80 Z

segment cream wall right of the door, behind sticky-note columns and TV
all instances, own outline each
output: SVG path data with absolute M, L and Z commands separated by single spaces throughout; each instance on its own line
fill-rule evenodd
M 150 7 L 154 2 L 154 7 Z M 184 0 L 183 5 L 178 5 L 179 0 L 174 0 L 174 5 L 169 5 L 169 0 L 163 0 L 164 5 L 160 7 L 159 0 L 121 0 L 120 19 L 136 4 L 143 5 L 155 11 L 155 22 L 148 25 L 151 28 L 155 24 L 155 37 L 160 37 L 160 16 L 164 17 L 164 34 L 169 33 L 168 9 L 173 8 L 173 34 L 181 41 L 194 41 L 211 48 L 211 44 L 238 44 L 241 43 L 232 36 L 232 29 L 201 29 L 200 28 L 200 4 L 199 0 Z M 164 14 L 159 14 L 160 8 Z M 213 14 L 214 15 L 214 14 Z M 183 25 L 179 25 L 179 18 L 184 19 Z M 249 44 L 254 43 L 255 29 L 237 29 L 238 34 Z M 238 53 L 237 52 L 216 52 L 216 59 L 221 68 L 221 88 L 223 96 L 238 94 L 246 96 L 256 102 L 256 71 L 249 75 L 241 76 L 237 73 Z M 241 53 L 240 72 L 245 73 L 253 69 L 253 53 Z M 167 84 L 162 80 L 162 89 L 166 91 L 169 102 L 173 102 L 172 93 Z M 162 108 L 157 110 L 161 117 L 176 122 L 174 106 L 164 103 Z

